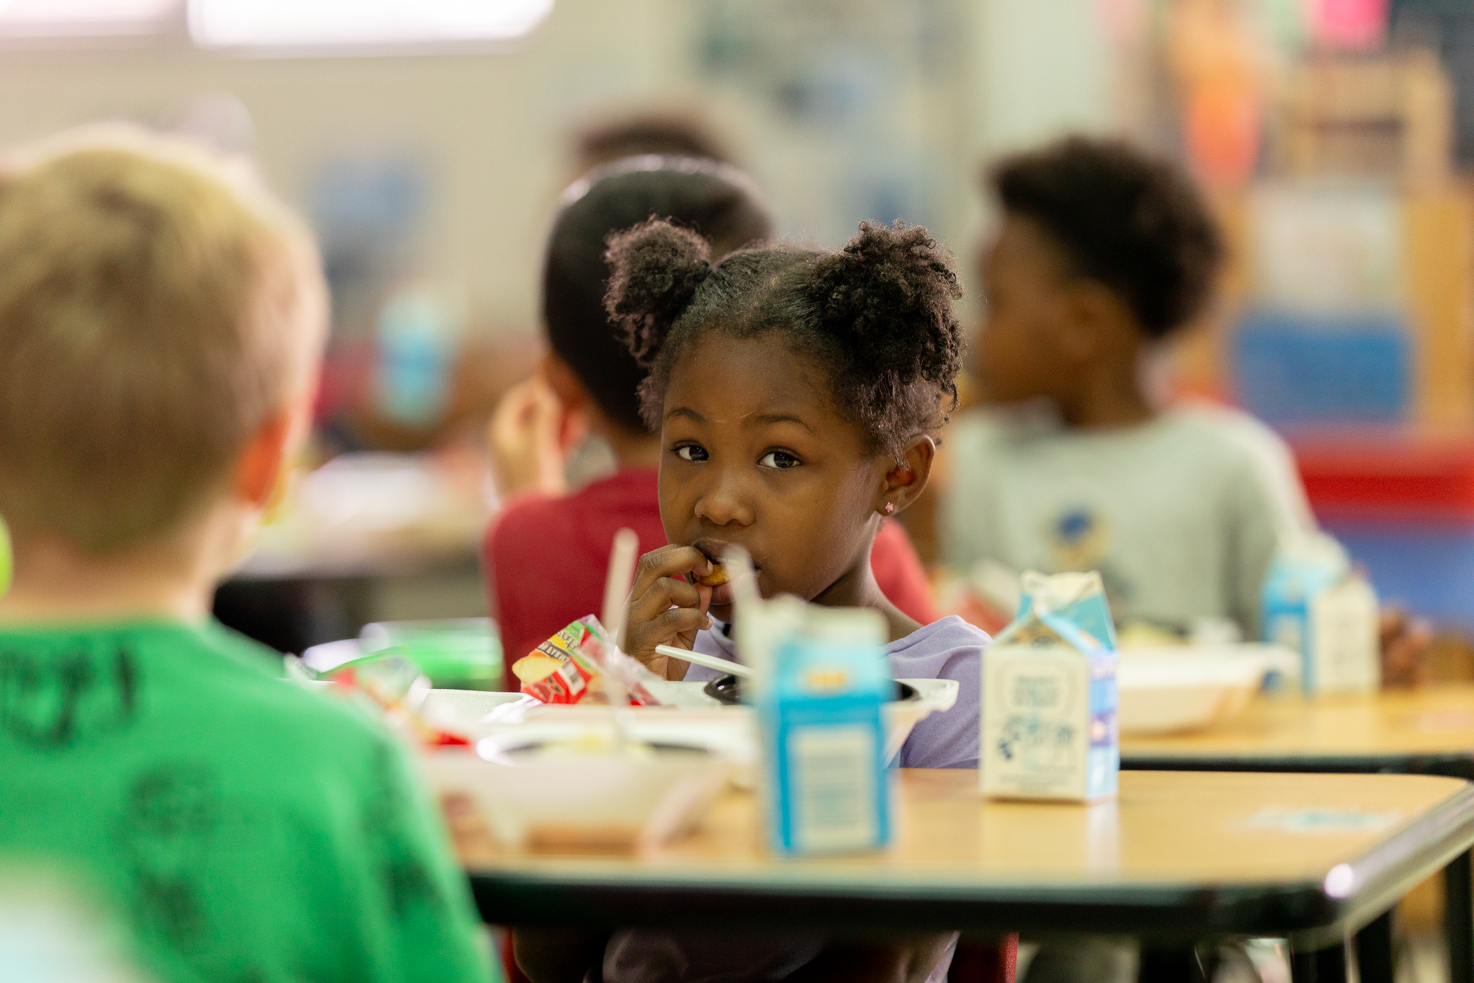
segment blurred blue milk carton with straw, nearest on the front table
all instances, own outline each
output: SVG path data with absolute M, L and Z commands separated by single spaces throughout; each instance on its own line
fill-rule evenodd
M 892 842 L 892 790 L 881 704 L 895 694 L 884 620 L 809 607 L 790 626 L 772 640 L 758 699 L 772 849 L 883 849 Z

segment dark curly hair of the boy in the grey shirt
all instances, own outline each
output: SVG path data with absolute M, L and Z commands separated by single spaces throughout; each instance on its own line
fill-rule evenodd
M 1073 273 L 1104 283 L 1163 337 L 1207 302 L 1223 258 L 1192 181 L 1122 140 L 1066 137 L 991 174 L 999 203 L 1036 223 Z

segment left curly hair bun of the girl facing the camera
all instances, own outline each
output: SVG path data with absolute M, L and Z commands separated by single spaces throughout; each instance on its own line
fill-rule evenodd
M 697 287 L 712 274 L 710 246 L 694 231 L 650 218 L 609 237 L 604 309 L 629 352 L 650 365 Z

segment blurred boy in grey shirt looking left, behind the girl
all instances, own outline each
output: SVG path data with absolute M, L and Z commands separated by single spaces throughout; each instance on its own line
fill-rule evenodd
M 1219 405 L 1163 408 L 1151 357 L 1198 317 L 1222 240 L 1176 167 L 1070 137 L 999 164 L 973 371 L 985 404 L 951 435 L 943 559 L 1013 570 L 1100 569 L 1117 620 L 1259 637 L 1260 588 L 1285 536 L 1315 528 L 1288 448 Z M 1427 632 L 1396 616 L 1390 681 Z

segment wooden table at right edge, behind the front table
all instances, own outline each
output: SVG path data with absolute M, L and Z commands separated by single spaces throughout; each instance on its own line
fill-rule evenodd
M 1259 697 L 1210 731 L 1123 737 L 1120 763 L 1151 771 L 1391 772 L 1474 781 L 1474 685 L 1315 700 Z M 1443 872 L 1450 983 L 1474 983 L 1470 862 L 1465 853 Z M 1390 961 L 1390 915 L 1368 933 L 1372 937 L 1378 942 L 1366 955 Z

